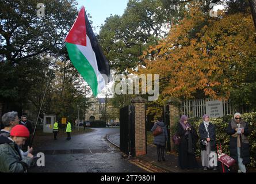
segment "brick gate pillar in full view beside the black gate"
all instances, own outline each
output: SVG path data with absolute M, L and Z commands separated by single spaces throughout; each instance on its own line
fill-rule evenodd
M 136 97 L 132 99 L 135 107 L 135 153 L 136 156 L 146 155 L 146 99 Z

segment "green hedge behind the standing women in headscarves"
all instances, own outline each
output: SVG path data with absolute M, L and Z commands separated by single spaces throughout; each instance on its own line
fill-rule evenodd
M 228 123 L 232 119 L 232 115 L 227 115 L 220 118 L 210 118 L 210 121 L 212 124 L 216 127 L 216 142 L 217 144 L 221 144 L 221 148 L 224 153 L 230 155 L 229 150 L 229 142 L 230 142 L 230 136 L 227 135 L 226 129 L 228 127 Z M 244 113 L 242 114 L 242 118 L 244 121 L 249 123 L 249 144 L 250 144 L 250 164 L 251 167 L 256 167 L 256 112 L 252 113 Z M 189 123 L 196 128 L 198 136 L 198 127 L 202 122 L 202 118 L 190 118 Z M 178 124 L 178 121 L 177 121 Z M 177 124 L 174 125 L 174 128 L 171 129 L 172 133 L 175 133 Z M 177 147 L 176 147 L 177 148 Z M 197 150 L 196 150 L 196 156 L 201 156 L 201 151 L 199 147 L 199 141 L 197 144 Z

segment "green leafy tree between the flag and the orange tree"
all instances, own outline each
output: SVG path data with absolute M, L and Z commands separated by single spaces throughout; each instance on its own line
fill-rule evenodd
M 170 14 L 161 2 L 130 0 L 123 16 L 110 16 L 101 26 L 98 36 L 110 67 L 118 72 L 134 68 L 142 60 L 139 56 L 150 44 L 165 36 Z

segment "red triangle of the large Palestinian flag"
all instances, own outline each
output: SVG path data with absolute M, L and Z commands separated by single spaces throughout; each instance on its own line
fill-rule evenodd
M 85 7 L 82 7 L 79 11 L 77 19 L 67 34 L 65 42 L 86 46 Z

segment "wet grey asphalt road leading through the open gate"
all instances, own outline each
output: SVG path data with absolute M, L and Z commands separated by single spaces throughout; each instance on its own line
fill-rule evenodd
M 35 153 L 43 152 L 45 166 L 37 165 L 29 173 L 145 173 L 142 168 L 128 162 L 118 148 L 110 144 L 106 135 L 118 133 L 119 128 L 94 128 L 95 131 L 45 141 Z M 35 154 L 36 155 L 36 154 Z

